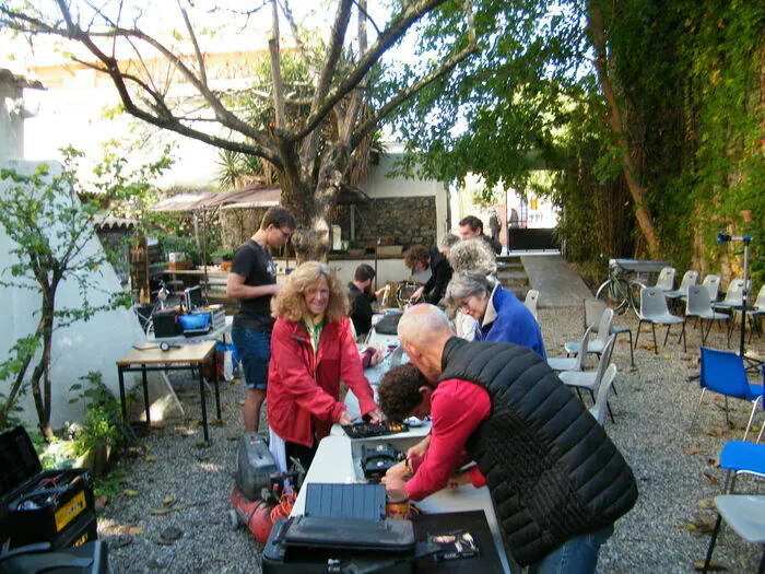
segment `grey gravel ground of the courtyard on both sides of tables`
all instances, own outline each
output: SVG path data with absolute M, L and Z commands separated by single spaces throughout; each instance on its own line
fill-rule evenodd
M 580 338 L 579 308 L 540 309 L 539 315 L 551 356 L 562 354 L 564 341 Z M 616 324 L 631 327 L 634 337 L 634 315 L 617 317 Z M 663 336 L 663 328 L 660 332 Z M 605 429 L 632 465 L 640 496 L 635 508 L 616 524 L 614 536 L 601 552 L 599 572 L 694 572 L 693 563 L 704 558 L 709 536 L 694 534 L 688 524 L 699 523 L 699 516 L 702 522 L 705 517 L 714 520 L 714 511 L 704 509 L 699 501 L 719 494 L 725 476 L 715 468 L 715 458 L 727 441 L 742 437 L 746 423 L 748 407 L 731 401 L 735 429 L 728 429 L 722 402 L 711 396 L 690 431 L 698 385 L 687 377 L 698 372 L 699 335 L 690 331 L 688 353 L 672 336 L 667 347 L 661 347 L 661 340 L 657 356 L 646 348 L 651 342 L 650 331 L 644 331 L 636 351 L 636 371 L 628 371 L 625 337 L 620 337 L 614 353 L 620 367 L 619 396 L 611 398 L 616 423 L 607 420 Z M 725 349 L 725 332 L 713 328 L 707 342 Z M 750 350 L 765 355 L 765 339 L 755 337 Z M 589 366 L 595 366 L 595 356 Z M 122 457 L 117 476 L 123 473 L 125 478 L 118 490 L 128 493 L 115 495 L 99 512 L 99 537 L 110 542 L 115 572 L 259 572 L 256 542 L 248 530 L 232 530 L 227 516 L 236 438 L 243 431 L 244 386 L 238 382 L 222 384 L 224 421 L 211 426 L 213 446 L 205 448 L 200 447 L 202 429 L 195 384 L 178 376 L 174 385 L 180 388 L 187 418 L 152 429 L 140 447 Z M 757 426 L 762 421 L 761 411 Z M 764 490 L 754 480 L 741 479 L 737 485 L 738 492 Z M 729 572 L 754 572 L 761 551 L 723 529 L 715 559 Z

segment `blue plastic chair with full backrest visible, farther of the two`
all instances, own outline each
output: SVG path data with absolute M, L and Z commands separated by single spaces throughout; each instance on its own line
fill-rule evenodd
M 765 370 L 763 372 L 765 382 Z M 749 417 L 744 441 L 752 426 L 754 412 L 763 400 L 763 385 L 753 385 L 746 379 L 746 367 L 741 356 L 730 351 L 717 351 L 707 347 L 702 347 L 702 373 L 698 377 L 698 386 L 702 388 L 702 396 L 698 399 L 696 411 L 693 414 L 691 426 L 696 420 L 698 409 L 704 400 L 707 389 L 726 396 L 726 420 L 730 423 L 728 415 L 727 397 L 732 397 L 752 402 L 752 413 Z

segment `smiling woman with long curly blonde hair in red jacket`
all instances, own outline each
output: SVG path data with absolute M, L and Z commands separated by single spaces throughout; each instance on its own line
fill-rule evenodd
M 325 263 L 303 263 L 271 303 L 268 421 L 284 441 L 286 460 L 308 469 L 332 423 L 351 424 L 340 400 L 340 378 L 358 397 L 363 415 L 379 422 L 374 391 L 351 335 L 348 294 Z

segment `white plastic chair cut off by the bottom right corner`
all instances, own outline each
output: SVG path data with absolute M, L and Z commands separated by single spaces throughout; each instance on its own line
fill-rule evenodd
M 711 553 L 715 551 L 715 542 L 722 526 L 722 519 L 739 535 L 750 543 L 765 544 L 765 496 L 751 494 L 723 494 L 715 496 L 715 506 L 717 507 L 717 522 L 715 529 L 709 538 L 709 548 L 707 557 L 704 561 L 704 570 L 706 573 L 709 570 L 711 562 Z M 761 574 L 765 572 L 765 552 L 760 559 Z

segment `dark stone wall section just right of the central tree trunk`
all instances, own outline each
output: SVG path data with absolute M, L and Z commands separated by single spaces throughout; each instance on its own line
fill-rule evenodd
M 346 238 L 345 229 L 343 225 L 343 239 Z M 392 235 L 397 245 L 435 245 L 436 198 L 379 198 L 356 206 L 356 237 L 365 239 L 380 235 Z

